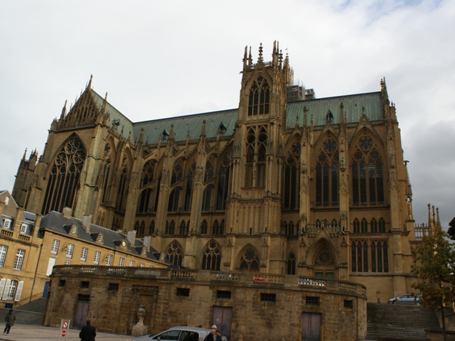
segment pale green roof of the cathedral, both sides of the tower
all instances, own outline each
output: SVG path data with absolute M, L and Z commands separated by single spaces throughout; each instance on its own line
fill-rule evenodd
M 95 102 L 99 108 L 102 107 L 104 98 L 91 90 L 95 97 Z M 299 117 L 299 126 L 303 125 L 303 110 L 307 109 L 307 122 L 311 124 L 313 117 L 314 126 L 324 126 L 326 124 L 326 115 L 328 111 L 333 114 L 332 124 L 340 122 L 340 104 L 343 103 L 343 112 L 346 113 L 348 123 L 355 123 L 360 120 L 362 108 L 365 108 L 365 115 L 370 121 L 380 121 L 383 119 L 381 92 L 369 92 L 364 94 L 350 94 L 338 97 L 326 97 L 320 99 L 307 99 L 297 102 L 289 102 L 287 107 L 287 129 L 293 129 L 296 125 L 296 117 Z M 114 120 L 119 120 L 117 131 L 122 131 L 123 136 L 127 138 L 131 131 L 131 141 L 139 139 L 141 129 L 144 129 L 144 143 L 158 143 L 159 136 L 164 130 L 169 134 L 171 125 L 176 141 L 186 141 L 189 139 L 199 139 L 203 121 L 205 121 L 205 136 L 215 138 L 218 134 L 218 128 L 223 122 L 226 127 L 224 134 L 220 136 L 232 136 L 235 122 L 238 118 L 238 109 L 228 109 L 217 112 L 205 112 L 200 114 L 190 114 L 181 117 L 168 117 L 164 119 L 154 119 L 150 121 L 132 122 L 124 114 L 107 103 L 106 112 L 109 112 L 111 124 Z M 162 141 L 166 144 L 166 141 Z

